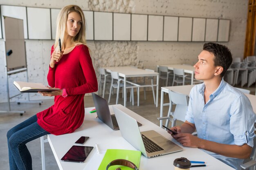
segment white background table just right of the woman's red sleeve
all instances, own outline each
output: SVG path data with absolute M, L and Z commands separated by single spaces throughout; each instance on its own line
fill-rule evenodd
M 159 73 L 146 71 L 139 68 L 134 68 L 130 66 L 119 66 L 119 67 L 103 67 L 107 72 L 115 71 L 119 73 L 120 77 L 124 77 L 124 106 L 126 107 L 126 78 L 127 77 L 148 77 L 148 76 L 157 76 L 157 94 L 156 94 L 156 107 L 158 106 L 158 82 L 159 82 Z M 143 87 L 143 86 L 141 86 Z

